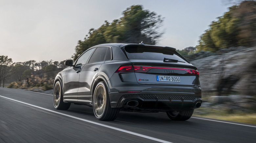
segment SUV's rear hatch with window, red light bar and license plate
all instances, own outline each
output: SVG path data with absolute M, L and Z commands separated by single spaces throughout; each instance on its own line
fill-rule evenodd
M 130 70 L 134 70 L 139 84 L 195 86 L 199 77 L 197 68 L 174 48 L 129 45 L 123 51 L 132 63 Z

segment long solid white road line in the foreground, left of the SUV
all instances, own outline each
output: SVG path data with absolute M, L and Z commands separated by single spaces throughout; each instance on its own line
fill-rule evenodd
M 68 114 L 56 112 L 56 111 L 49 110 L 49 109 L 46 109 L 46 108 L 43 108 L 43 107 L 39 107 L 39 106 L 36 106 L 36 105 L 32 105 L 32 104 L 29 104 L 29 103 L 25 103 L 25 102 L 22 102 L 22 101 L 11 99 L 11 98 L 8 98 L 8 97 L 5 97 L 5 96 L 0 95 L 0 97 L 5 98 L 5 99 L 9 99 L 9 100 L 12 100 L 12 101 L 15 101 L 15 102 L 18 102 L 18 103 L 23 103 L 23 104 L 26 104 L 26 105 L 30 105 L 30 106 L 33 106 L 33 107 L 36 107 L 36 108 L 39 108 L 39 109 L 42 109 L 42 110 L 46 110 L 46 111 L 49 111 L 49 112 L 53 112 L 53 113 L 56 113 L 56 114 L 60 114 L 60 115 L 63 115 L 63 116 L 67 116 L 67 117 L 70 117 L 70 118 L 82 120 L 82 121 L 85 121 L 85 122 L 88 122 L 88 123 L 92 123 L 92 124 L 96 124 L 96 125 L 99 125 L 99 126 L 103 126 L 103 127 L 106 127 L 106 128 L 113 129 L 113 130 L 117 130 L 117 131 L 120 131 L 120 132 L 124 132 L 124 133 L 127 133 L 127 134 L 140 136 L 140 137 L 143 137 L 143 138 L 151 139 L 151 140 L 162 142 L 162 143 L 172 143 L 172 142 L 161 140 L 161 139 L 154 138 L 154 137 L 151 137 L 151 136 L 134 133 L 134 132 L 131 132 L 131 131 L 127 131 L 127 130 L 119 129 L 119 128 L 112 127 L 112 126 L 109 126 L 109 125 L 105 125 L 105 124 L 97 123 L 97 122 L 94 122 L 94 121 L 90 121 L 90 120 L 87 120 L 87 119 L 82 119 L 82 118 L 78 118 L 78 117 L 71 116 L 71 115 L 68 115 Z

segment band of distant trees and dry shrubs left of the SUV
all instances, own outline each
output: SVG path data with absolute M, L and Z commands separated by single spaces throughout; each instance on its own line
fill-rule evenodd
M 11 83 L 8 88 L 45 87 L 53 88 L 53 81 L 58 71 L 63 70 L 65 60 L 58 62 L 35 60 L 13 63 L 8 56 L 0 56 L 0 83 Z M 53 65 L 54 64 L 54 65 Z M 1 82 L 2 81 L 2 82 Z M 0 86 L 1 86 L 0 84 Z

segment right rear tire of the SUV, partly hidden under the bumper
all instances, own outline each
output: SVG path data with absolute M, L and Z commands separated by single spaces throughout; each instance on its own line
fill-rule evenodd
M 189 119 L 194 112 L 194 109 L 185 110 L 185 111 L 169 111 L 166 112 L 167 116 L 176 121 L 184 121 Z

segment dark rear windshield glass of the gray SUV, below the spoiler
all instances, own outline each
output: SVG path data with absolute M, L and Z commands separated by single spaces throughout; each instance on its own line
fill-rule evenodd
M 163 60 L 164 58 L 186 62 L 165 47 L 126 46 L 125 52 L 129 59 Z

